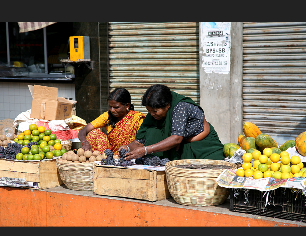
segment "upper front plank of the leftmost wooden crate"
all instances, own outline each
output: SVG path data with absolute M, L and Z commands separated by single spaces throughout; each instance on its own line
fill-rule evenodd
M 1 163 L 1 170 L 8 170 L 8 171 L 16 171 L 16 172 L 24 172 L 24 173 L 39 173 L 39 163 L 28 163 L 22 161 L 13 161 L 13 160 L 0 160 Z

